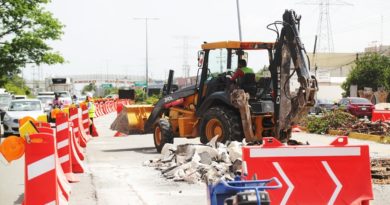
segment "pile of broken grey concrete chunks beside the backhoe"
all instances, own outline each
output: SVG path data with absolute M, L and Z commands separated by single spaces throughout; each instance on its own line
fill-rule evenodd
M 188 183 L 214 183 L 233 180 L 241 174 L 241 142 L 226 145 L 214 137 L 209 144 L 165 144 L 161 156 L 144 162 L 144 166 L 155 167 L 167 179 Z

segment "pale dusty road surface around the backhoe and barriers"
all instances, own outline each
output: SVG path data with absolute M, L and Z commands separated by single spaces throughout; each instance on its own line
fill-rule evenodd
M 143 166 L 159 156 L 151 134 L 113 137 L 109 129 L 116 114 L 95 119 L 100 137 L 92 139 L 86 149 L 86 173 L 72 184 L 71 205 L 85 204 L 207 204 L 205 184 L 173 182 L 161 177 L 160 171 Z M 327 145 L 334 137 L 294 133 L 293 138 L 311 145 Z M 175 139 L 175 144 L 199 143 L 199 139 Z M 373 159 L 390 158 L 390 145 L 349 140 L 350 144 L 368 144 Z M 389 169 L 389 168 L 388 168 Z M 44 185 L 42 185 L 44 188 Z M 24 192 L 24 158 L 10 165 L 0 164 L 0 204 L 21 204 Z M 390 185 L 373 185 L 372 204 L 390 204 Z

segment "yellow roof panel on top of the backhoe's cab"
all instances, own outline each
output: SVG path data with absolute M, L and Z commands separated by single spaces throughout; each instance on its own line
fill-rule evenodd
M 241 41 L 220 41 L 213 43 L 202 44 L 202 49 L 212 50 L 212 49 L 222 49 L 222 48 L 232 48 L 232 49 L 243 49 L 243 50 L 262 50 L 262 49 L 271 49 L 275 43 L 272 42 L 241 42 Z

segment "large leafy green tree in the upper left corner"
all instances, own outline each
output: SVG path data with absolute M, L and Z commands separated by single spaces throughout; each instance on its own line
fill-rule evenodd
M 0 78 L 20 73 L 27 64 L 64 62 L 46 43 L 63 34 L 63 25 L 44 9 L 49 2 L 0 0 Z

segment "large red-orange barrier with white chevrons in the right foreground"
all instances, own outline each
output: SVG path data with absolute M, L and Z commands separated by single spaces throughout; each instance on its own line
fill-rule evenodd
M 373 199 L 368 145 L 347 145 L 338 137 L 329 146 L 285 146 L 264 138 L 242 148 L 246 179 L 277 177 L 272 204 L 369 204 Z

